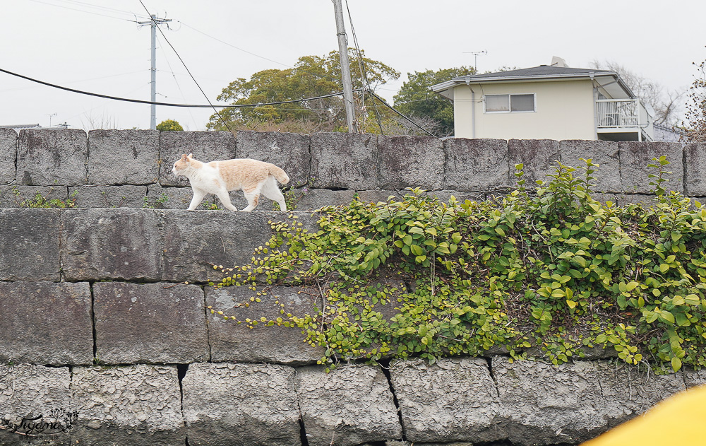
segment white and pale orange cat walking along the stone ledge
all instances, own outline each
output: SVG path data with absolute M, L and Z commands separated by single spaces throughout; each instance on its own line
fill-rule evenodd
M 260 194 L 277 201 L 281 211 L 287 211 L 285 196 L 277 187 L 277 181 L 287 184 L 289 176 L 274 164 L 249 158 L 201 163 L 189 153 L 181 155 L 181 158 L 174 162 L 172 172 L 174 175 L 189 178 L 193 190 L 189 211 L 196 209 L 206 194 L 216 195 L 226 209 L 237 211 L 230 202 L 228 191 L 231 190 L 243 191 L 248 200 L 244 212 L 250 212 L 258 206 Z

